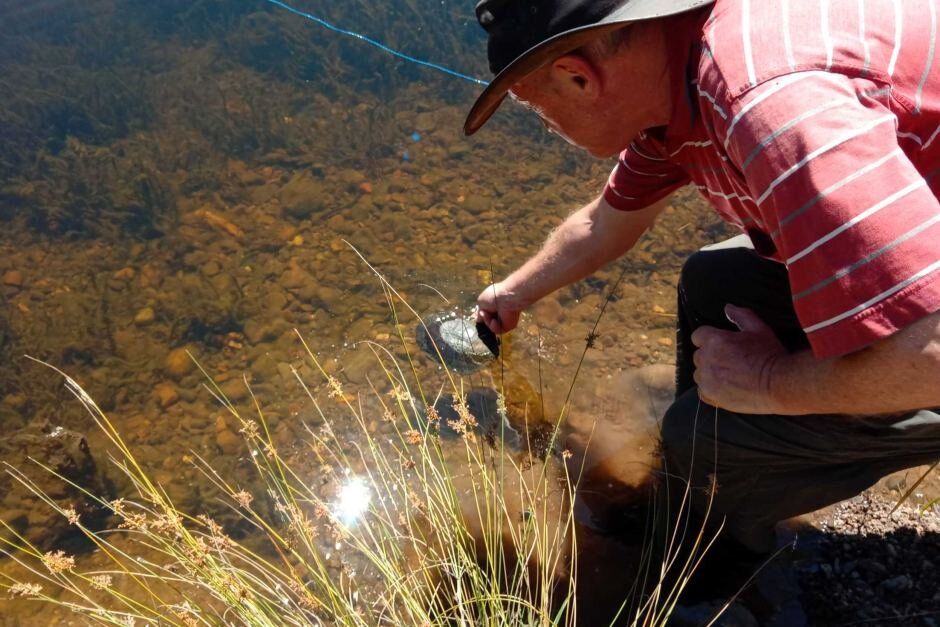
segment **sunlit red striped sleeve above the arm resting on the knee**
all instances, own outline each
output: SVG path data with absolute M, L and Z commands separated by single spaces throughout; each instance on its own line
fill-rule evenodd
M 806 74 L 746 93 L 716 135 L 825 358 L 940 309 L 940 204 L 899 147 L 897 116 L 907 111 L 890 88 Z

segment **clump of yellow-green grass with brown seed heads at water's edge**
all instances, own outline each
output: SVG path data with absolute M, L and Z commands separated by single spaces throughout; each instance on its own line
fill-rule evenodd
M 397 322 L 399 297 L 383 285 Z M 188 456 L 218 489 L 223 516 L 176 507 L 116 426 L 63 374 L 109 438 L 112 461 L 133 496 L 109 501 L 83 490 L 115 522 L 94 531 L 8 466 L 109 565 L 83 570 L 81 560 L 44 552 L 4 523 L 0 552 L 30 576 L 0 574 L 0 588 L 109 625 L 575 625 L 578 533 L 571 504 L 578 477 L 562 459 L 568 452 L 530 452 L 520 461 L 499 438 L 494 444 L 478 437 L 462 382 L 448 375 L 429 395 L 400 339 L 404 359 L 368 344 L 384 380 L 351 394 L 300 337 L 309 368 L 294 375 L 311 418 L 290 451 L 277 445 L 253 392 L 249 416 L 210 379 L 207 388 L 237 425 L 256 476 L 247 488 L 198 454 Z M 447 397 L 456 418 L 439 415 Z M 444 429 L 458 437 L 443 438 Z M 693 540 L 697 549 L 702 534 Z M 679 542 L 676 533 L 670 545 Z M 665 624 L 698 551 L 682 563 L 678 553 L 647 566 L 647 577 L 659 583 L 630 605 L 631 624 Z M 678 576 L 667 588 L 669 571 Z

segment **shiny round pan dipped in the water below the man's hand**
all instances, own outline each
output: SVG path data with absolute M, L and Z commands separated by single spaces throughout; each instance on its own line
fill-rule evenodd
M 499 338 L 486 325 L 474 324 L 454 313 L 436 314 L 422 321 L 415 336 L 421 350 L 433 359 L 443 359 L 454 372 L 475 372 L 499 357 Z

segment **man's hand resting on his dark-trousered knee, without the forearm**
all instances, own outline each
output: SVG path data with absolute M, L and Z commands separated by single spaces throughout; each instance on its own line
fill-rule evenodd
M 787 413 L 771 390 L 771 376 L 788 353 L 750 309 L 725 306 L 740 331 L 699 327 L 692 334 L 695 382 L 703 401 L 745 414 Z

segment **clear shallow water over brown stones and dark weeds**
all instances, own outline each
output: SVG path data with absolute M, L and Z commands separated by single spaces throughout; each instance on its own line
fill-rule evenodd
M 294 377 L 314 380 L 294 329 L 364 390 L 384 380 L 369 343 L 404 356 L 393 340 L 412 338 L 416 321 L 392 315 L 350 244 L 419 315 L 467 308 L 609 168 L 520 112 L 468 141 L 460 128 L 476 88 L 260 2 L 24 6 L 0 0 L 0 428 L 33 447 L 3 449 L 15 464 L 39 442 L 64 467 L 90 455 L 90 472 L 108 473 L 109 443 L 61 380 L 19 358 L 28 353 L 89 390 L 179 507 L 224 517 L 188 461 L 198 454 L 247 486 L 251 453 L 190 354 L 246 413 L 250 381 L 290 451 L 317 421 Z M 301 7 L 485 73 L 463 2 Z M 585 337 L 616 268 L 534 307 L 503 361 L 466 375 L 467 389 L 505 387 L 510 418 L 553 420 L 584 353 L 568 446 L 588 451 L 596 476 L 639 485 L 668 395 L 663 371 L 648 367 L 672 361 L 677 269 L 720 232 L 680 195 L 625 261 L 593 348 L 584 353 Z M 416 368 L 429 389 L 442 385 L 430 360 Z M 31 440 L 43 425 L 74 438 Z M 362 470 L 324 482 L 350 518 L 375 496 L 356 481 Z M 114 495 L 130 490 L 114 473 L 102 481 Z M 0 517 L 40 544 L 68 539 L 8 477 Z M 58 610 L 3 600 L 0 611 L 15 625 Z

